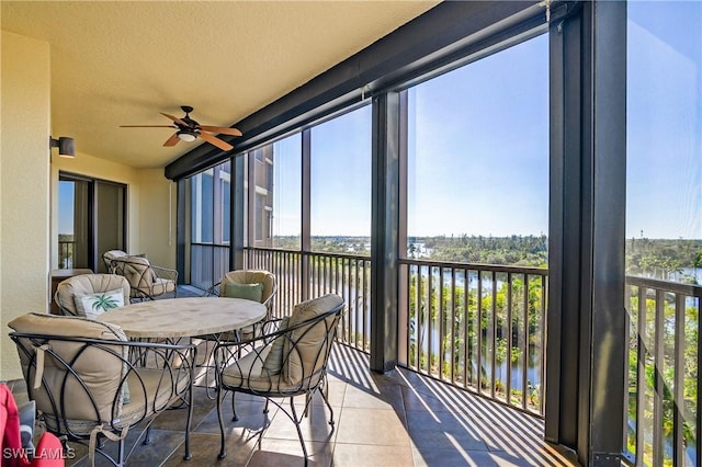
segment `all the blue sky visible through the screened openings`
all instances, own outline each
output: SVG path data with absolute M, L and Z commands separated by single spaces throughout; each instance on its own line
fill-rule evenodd
M 631 1 L 629 18 L 626 237 L 702 239 L 702 2 Z M 547 41 L 410 88 L 410 236 L 547 235 Z M 299 235 L 301 145 L 275 143 L 274 235 Z M 310 147 L 313 236 L 369 237 L 371 106 Z

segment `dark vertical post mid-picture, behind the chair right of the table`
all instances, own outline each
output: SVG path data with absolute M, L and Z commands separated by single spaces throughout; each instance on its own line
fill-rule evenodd
M 373 99 L 371 228 L 371 369 L 397 363 L 400 96 Z

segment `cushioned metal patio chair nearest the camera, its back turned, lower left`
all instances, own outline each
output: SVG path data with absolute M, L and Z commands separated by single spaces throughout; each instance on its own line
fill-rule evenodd
M 39 418 L 55 435 L 87 445 L 91 465 L 95 452 L 124 465 L 128 430 L 145 422 L 144 444 L 150 443 L 152 420 L 178 403 L 188 410 L 184 458 L 191 458 L 193 344 L 127 341 L 118 327 L 79 317 L 29 314 L 9 326 Z M 116 456 L 104 449 L 105 438 L 118 443 Z

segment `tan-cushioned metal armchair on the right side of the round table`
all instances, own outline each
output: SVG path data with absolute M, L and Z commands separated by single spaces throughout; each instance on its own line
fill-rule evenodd
M 222 402 L 231 391 L 234 420 L 237 420 L 234 396 L 245 392 L 265 398 L 278 406 L 295 424 L 297 436 L 308 462 L 307 448 L 299 429 L 307 415 L 314 392 L 319 391 L 329 409 L 329 424 L 333 433 L 333 410 L 327 397 L 327 364 L 339 319 L 344 308 L 343 298 L 327 294 L 295 306 L 290 318 L 269 320 L 263 334 L 240 342 L 222 342 L 215 346 L 217 372 L 217 415 L 219 419 L 219 458 L 226 456 L 225 426 Z M 244 356 L 241 348 L 249 351 Z M 294 397 L 305 396 L 305 408 L 298 417 Z M 280 398 L 290 399 L 290 411 Z

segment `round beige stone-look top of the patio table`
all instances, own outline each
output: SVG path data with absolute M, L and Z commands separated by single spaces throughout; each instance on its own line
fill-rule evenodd
M 105 311 L 99 321 L 116 324 L 127 338 L 185 338 L 253 324 L 267 308 L 244 298 L 189 297 L 141 301 Z

